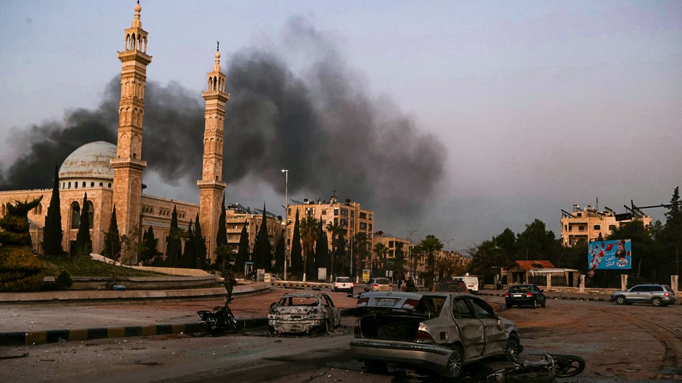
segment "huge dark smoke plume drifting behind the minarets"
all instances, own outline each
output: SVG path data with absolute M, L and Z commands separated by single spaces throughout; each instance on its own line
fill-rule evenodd
M 256 177 L 284 194 L 286 168 L 296 174 L 290 196 L 325 199 L 335 189 L 384 217 L 417 213 L 443 177 L 444 146 L 390 102 L 372 99 L 333 44 L 303 19 L 291 21 L 284 38 L 312 57 L 303 74 L 271 50 L 245 49 L 227 60 L 224 181 L 249 187 L 239 182 Z M 198 93 L 147 82 L 145 172 L 168 184 L 196 187 L 200 178 L 204 106 Z M 115 143 L 119 95 L 117 76 L 96 110 L 28 127 L 19 139 L 29 150 L 0 174 L 0 189 L 51 187 L 52 165 L 80 145 Z

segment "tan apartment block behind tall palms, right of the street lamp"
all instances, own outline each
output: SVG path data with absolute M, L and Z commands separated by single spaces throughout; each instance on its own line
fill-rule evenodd
M 322 226 L 327 230 L 327 224 L 333 223 L 340 226 L 345 231 L 344 238 L 350 240 L 352 235 L 365 233 L 367 235 L 367 250 L 371 250 L 374 228 L 374 211 L 363 209 L 359 202 L 347 199 L 341 202 L 337 197 L 332 196 L 329 201 L 321 199 L 308 200 L 303 202 L 289 199 L 286 211 L 286 250 L 291 251 L 291 238 L 293 237 L 293 225 L 296 221 L 296 211 L 298 219 L 313 217 L 322 221 Z M 332 249 L 332 235 L 327 233 L 328 248 Z

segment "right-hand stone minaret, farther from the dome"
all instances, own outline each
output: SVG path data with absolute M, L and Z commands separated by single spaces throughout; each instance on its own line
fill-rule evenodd
M 215 262 L 215 236 L 218 232 L 218 219 L 222 209 L 222 141 L 225 120 L 225 103 L 229 94 L 225 93 L 225 75 L 220 72 L 220 43 L 215 52 L 213 72 L 207 75 L 207 89 L 201 96 L 206 100 L 204 112 L 204 155 L 199 187 L 199 222 L 202 233 L 206 233 L 207 257 Z

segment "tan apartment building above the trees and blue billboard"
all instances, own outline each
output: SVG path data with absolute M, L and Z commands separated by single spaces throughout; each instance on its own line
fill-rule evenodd
M 633 220 L 642 220 L 644 226 L 651 225 L 651 217 L 638 209 L 627 214 L 616 214 L 606 207 L 605 211 L 599 211 L 591 205 L 581 209 L 578 204 L 573 203 L 572 212 L 561 210 L 561 243 L 564 246 L 573 246 L 580 241 L 589 243 L 600 236 L 606 238 L 622 223 Z

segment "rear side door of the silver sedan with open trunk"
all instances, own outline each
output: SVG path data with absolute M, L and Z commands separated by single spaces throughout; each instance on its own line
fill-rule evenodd
M 453 296 L 453 317 L 464 343 L 465 359 L 480 357 L 485 349 L 485 328 L 466 296 Z

